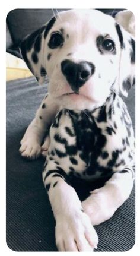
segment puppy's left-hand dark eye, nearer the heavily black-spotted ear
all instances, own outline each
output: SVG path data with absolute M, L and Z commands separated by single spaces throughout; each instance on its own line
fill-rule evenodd
M 50 37 L 48 46 L 51 49 L 58 48 L 63 45 L 64 39 L 61 33 L 54 32 L 52 33 L 52 36 Z

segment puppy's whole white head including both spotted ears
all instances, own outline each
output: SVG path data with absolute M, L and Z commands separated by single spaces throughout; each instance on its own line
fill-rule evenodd
M 39 83 L 47 72 L 49 94 L 64 108 L 97 108 L 111 90 L 127 96 L 134 83 L 134 39 L 96 10 L 60 12 L 23 41 L 21 53 Z

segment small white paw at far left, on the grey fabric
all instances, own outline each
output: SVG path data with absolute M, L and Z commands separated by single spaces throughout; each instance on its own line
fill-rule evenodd
M 23 138 L 21 140 L 21 147 L 19 149 L 21 156 L 28 159 L 36 159 L 41 153 L 41 146 L 33 140 L 33 138 Z

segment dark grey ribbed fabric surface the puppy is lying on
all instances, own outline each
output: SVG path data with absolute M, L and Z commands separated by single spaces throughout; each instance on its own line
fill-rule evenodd
M 20 140 L 46 93 L 34 78 L 7 83 L 7 245 L 14 251 L 57 251 L 55 220 L 42 182 L 44 159 L 18 153 Z M 135 127 L 135 87 L 126 100 Z M 84 198 L 86 189 L 79 197 Z M 85 192 L 84 192 L 85 189 Z M 81 193 L 81 194 L 80 194 Z M 96 251 L 128 251 L 135 243 L 135 188 L 107 222 L 96 226 Z

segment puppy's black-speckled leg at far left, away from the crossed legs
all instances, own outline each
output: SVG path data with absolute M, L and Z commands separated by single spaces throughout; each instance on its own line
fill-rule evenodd
M 30 159 L 37 158 L 41 150 L 46 151 L 49 147 L 49 138 L 44 140 L 44 144 L 41 148 L 41 144 L 44 135 L 47 132 L 53 118 L 55 117 L 59 107 L 56 105 L 49 94 L 43 99 L 39 109 L 36 112 L 36 116 L 28 126 L 23 139 L 21 140 L 20 153 L 23 157 Z M 49 135 L 48 135 L 49 136 Z

